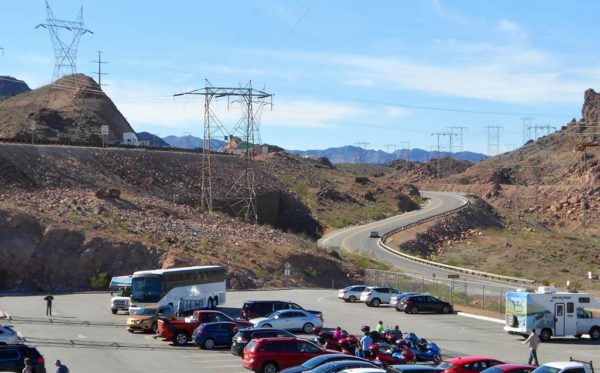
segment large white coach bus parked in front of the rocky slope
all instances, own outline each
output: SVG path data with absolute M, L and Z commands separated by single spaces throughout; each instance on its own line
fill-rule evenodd
M 213 309 L 225 303 L 225 275 L 221 266 L 195 266 L 134 272 L 131 279 L 130 312 L 159 304 L 184 310 Z

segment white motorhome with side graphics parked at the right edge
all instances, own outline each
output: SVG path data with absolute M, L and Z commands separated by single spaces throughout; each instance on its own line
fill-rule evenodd
M 540 286 L 536 292 L 519 289 L 506 293 L 504 330 L 511 334 L 528 335 L 535 329 L 542 341 L 568 335 L 581 338 L 588 334 L 600 339 L 600 318 L 594 318 L 586 308 L 600 308 L 592 294 L 557 292 Z

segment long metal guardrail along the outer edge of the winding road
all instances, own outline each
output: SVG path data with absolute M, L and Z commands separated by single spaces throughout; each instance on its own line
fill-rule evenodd
M 468 274 L 468 275 L 471 275 L 471 276 L 482 277 L 482 278 L 490 279 L 490 280 L 498 280 L 498 281 L 504 281 L 504 282 L 514 283 L 514 284 L 532 285 L 534 283 L 533 280 L 524 279 L 524 278 L 518 278 L 518 277 L 511 277 L 511 276 L 497 275 L 497 274 L 494 274 L 494 273 L 476 271 L 476 270 L 469 269 L 469 268 L 463 268 L 463 267 L 451 266 L 451 265 L 448 265 L 448 264 L 442 264 L 442 263 L 434 262 L 434 261 L 431 261 L 431 260 L 419 258 L 419 257 L 413 256 L 413 255 L 408 255 L 408 254 L 403 253 L 401 251 L 392 249 L 391 247 L 389 247 L 389 246 L 387 246 L 385 244 L 385 241 L 388 239 L 388 237 L 390 237 L 393 234 L 396 234 L 396 233 L 404 231 L 406 229 L 409 229 L 409 228 L 415 227 L 417 225 L 426 223 L 428 221 L 432 221 L 432 220 L 435 220 L 435 219 L 438 219 L 438 218 L 443 218 L 443 217 L 455 214 L 456 212 L 458 212 L 458 211 L 460 211 L 460 210 L 462 210 L 464 208 L 467 208 L 471 204 L 468 199 L 463 198 L 463 197 L 459 197 L 459 198 L 461 198 L 461 199 L 463 199 L 465 201 L 464 205 L 461 205 L 461 206 L 459 206 L 459 207 L 457 207 L 455 209 L 446 211 L 443 214 L 435 215 L 435 216 L 430 216 L 430 217 L 427 217 L 427 218 L 423 218 L 423 219 L 417 220 L 417 221 L 415 221 L 413 223 L 403 225 L 403 226 L 398 227 L 396 229 L 392 229 L 391 231 L 383 234 L 381 236 L 381 238 L 379 239 L 379 241 L 377 241 L 377 244 L 382 249 L 384 249 L 386 251 L 389 251 L 390 253 L 392 253 L 394 255 L 401 256 L 401 257 L 403 257 L 405 259 L 408 259 L 408 260 L 411 260 L 411 261 L 414 261 L 414 262 L 417 262 L 417 263 L 426 264 L 426 265 L 431 266 L 431 267 L 445 269 L 445 270 L 453 271 L 453 272 L 464 273 L 464 274 Z

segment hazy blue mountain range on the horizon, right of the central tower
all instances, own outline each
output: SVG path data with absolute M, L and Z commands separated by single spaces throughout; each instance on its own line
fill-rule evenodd
M 387 153 L 383 150 L 363 149 L 352 145 L 339 148 L 327 148 L 325 150 L 288 150 L 288 152 L 303 157 L 327 157 L 332 163 L 385 164 L 398 159 L 413 162 L 425 162 L 432 158 L 450 156 L 450 152 L 428 152 L 427 150 L 418 148 L 401 149 L 396 150 L 393 153 Z M 479 162 L 482 159 L 487 158 L 485 154 L 474 152 L 452 153 L 452 157 L 470 162 Z

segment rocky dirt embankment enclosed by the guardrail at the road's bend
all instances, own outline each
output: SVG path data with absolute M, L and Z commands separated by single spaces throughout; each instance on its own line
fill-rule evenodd
M 484 228 L 500 228 L 502 220 L 492 206 L 469 195 L 469 205 L 450 216 L 396 233 L 386 243 L 407 254 L 433 258 L 445 245 L 479 234 Z

